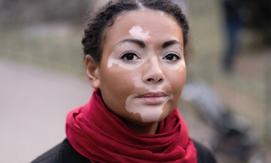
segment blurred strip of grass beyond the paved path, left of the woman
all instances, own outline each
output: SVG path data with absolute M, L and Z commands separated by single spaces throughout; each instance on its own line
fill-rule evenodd
M 1 57 L 65 73 L 82 73 L 81 27 L 49 23 L 5 26 L 1 31 Z

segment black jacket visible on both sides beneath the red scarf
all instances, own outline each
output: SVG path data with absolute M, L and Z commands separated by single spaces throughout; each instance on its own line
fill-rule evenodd
M 216 160 L 211 151 L 203 145 L 193 141 L 197 149 L 198 163 L 215 163 Z M 31 163 L 90 163 L 90 161 L 79 154 L 67 139 L 42 154 Z

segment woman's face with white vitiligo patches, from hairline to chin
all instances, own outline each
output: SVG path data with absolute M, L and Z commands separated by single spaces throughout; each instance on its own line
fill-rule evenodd
M 165 119 L 186 80 L 180 26 L 161 11 L 121 14 L 106 31 L 97 72 L 112 112 L 136 124 Z

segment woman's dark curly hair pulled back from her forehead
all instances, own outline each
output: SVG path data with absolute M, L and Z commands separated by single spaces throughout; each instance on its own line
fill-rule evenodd
M 113 0 L 102 7 L 88 22 L 82 39 L 84 55 L 91 55 L 100 62 L 104 31 L 114 23 L 115 18 L 124 11 L 139 9 L 159 10 L 172 15 L 183 30 L 184 47 L 188 42 L 189 25 L 186 16 L 178 5 L 169 0 Z

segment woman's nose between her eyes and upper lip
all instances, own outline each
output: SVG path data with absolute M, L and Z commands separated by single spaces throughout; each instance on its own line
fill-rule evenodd
M 143 82 L 162 83 L 165 79 L 161 65 L 156 57 L 150 58 L 144 66 Z

